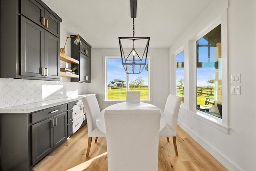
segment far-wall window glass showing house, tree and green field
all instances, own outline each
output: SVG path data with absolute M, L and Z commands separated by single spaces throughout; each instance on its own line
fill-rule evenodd
M 106 57 L 106 101 L 126 100 L 126 91 L 140 91 L 140 99 L 148 101 L 149 87 L 149 58 L 140 74 L 126 74 L 121 57 Z

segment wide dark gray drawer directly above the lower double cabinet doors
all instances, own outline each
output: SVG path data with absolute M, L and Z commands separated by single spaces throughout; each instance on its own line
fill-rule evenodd
M 32 123 L 46 119 L 48 117 L 52 117 L 66 110 L 67 110 L 67 105 L 64 104 L 56 107 L 51 107 L 42 111 L 38 111 L 36 113 L 32 113 Z

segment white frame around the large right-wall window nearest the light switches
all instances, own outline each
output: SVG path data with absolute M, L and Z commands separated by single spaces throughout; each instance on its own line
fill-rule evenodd
M 221 24 L 221 39 L 222 39 L 222 119 L 211 116 L 205 112 L 196 110 L 196 41 L 206 35 L 208 32 Z M 218 16 L 213 22 L 206 26 L 201 32 L 196 34 L 188 41 L 188 70 L 185 70 L 184 64 L 184 78 L 189 78 L 188 86 L 186 85 L 185 92 L 186 99 L 184 99 L 184 108 L 189 110 L 189 114 L 198 119 L 228 133 L 228 46 L 227 46 L 227 20 L 226 15 Z M 185 55 L 184 55 L 185 58 Z M 185 59 L 184 59 L 185 62 Z M 186 71 L 186 72 L 185 72 Z M 185 80 L 184 80 L 185 82 Z M 185 85 L 184 85 L 185 86 Z M 187 97 L 188 95 L 188 97 Z M 188 102 L 188 103 L 186 103 Z

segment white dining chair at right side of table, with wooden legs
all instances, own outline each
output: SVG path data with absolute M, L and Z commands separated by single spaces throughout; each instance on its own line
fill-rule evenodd
M 164 113 L 166 115 L 166 125 L 164 129 L 160 131 L 160 137 L 166 137 L 169 142 L 169 137 L 172 137 L 174 150 L 176 155 L 178 155 L 177 143 L 176 143 L 176 129 L 177 129 L 177 121 L 178 114 L 180 110 L 180 103 L 182 101 L 182 97 L 169 94 L 166 100 L 166 104 L 164 107 Z

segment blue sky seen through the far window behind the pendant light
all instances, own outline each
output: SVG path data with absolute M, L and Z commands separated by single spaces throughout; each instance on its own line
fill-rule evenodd
M 148 71 L 145 68 L 140 74 L 129 74 L 130 82 L 136 80 L 137 77 L 141 76 L 144 79 L 144 85 L 148 85 Z M 126 80 L 126 72 L 122 65 L 122 60 L 120 58 L 108 58 L 107 59 L 107 84 L 114 79 L 119 79 L 123 81 Z

